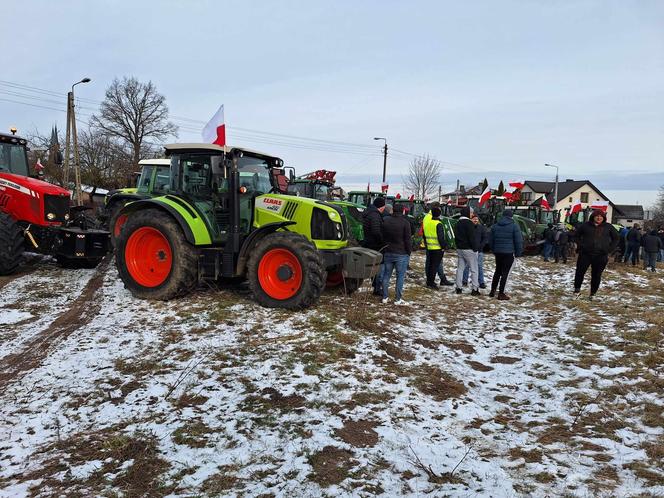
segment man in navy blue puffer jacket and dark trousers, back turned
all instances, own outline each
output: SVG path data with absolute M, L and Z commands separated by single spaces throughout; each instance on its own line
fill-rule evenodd
M 510 297 L 505 293 L 505 285 L 514 264 L 514 258 L 523 254 L 523 235 L 514 223 L 513 211 L 503 211 L 503 216 L 491 227 L 489 237 L 491 251 L 496 257 L 496 271 L 491 280 L 490 297 L 496 295 L 498 299 L 508 301 Z

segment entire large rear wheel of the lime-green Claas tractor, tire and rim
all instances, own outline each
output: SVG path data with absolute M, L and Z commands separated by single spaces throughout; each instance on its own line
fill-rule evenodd
M 150 237 L 163 238 L 170 251 L 170 258 L 165 251 L 151 254 L 148 245 L 141 246 L 140 236 L 146 232 L 149 232 Z M 137 247 L 142 249 L 138 251 L 140 254 L 137 253 Z M 145 260 L 145 254 L 147 263 L 139 264 Z M 165 263 L 169 259 L 170 265 Z M 187 242 L 182 229 L 171 216 L 155 209 L 132 213 L 117 240 L 115 263 L 125 287 L 142 299 L 166 301 L 191 292 L 198 283 L 198 251 Z M 157 265 L 161 265 L 161 269 Z M 136 273 L 136 268 L 144 272 L 143 278 Z M 151 274 L 158 275 L 163 268 L 167 268 L 163 280 L 158 283 L 149 281 Z

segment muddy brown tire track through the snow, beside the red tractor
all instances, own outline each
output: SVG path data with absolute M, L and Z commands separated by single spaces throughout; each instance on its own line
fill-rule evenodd
M 94 297 L 101 288 L 111 257 L 106 257 L 88 280 L 83 291 L 69 309 L 58 316 L 45 330 L 30 338 L 23 348 L 0 359 L 0 390 L 20 380 L 24 373 L 38 367 L 54 347 L 72 332 L 88 324 L 101 307 Z

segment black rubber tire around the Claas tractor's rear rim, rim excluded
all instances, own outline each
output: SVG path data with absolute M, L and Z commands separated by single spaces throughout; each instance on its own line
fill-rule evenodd
M 173 267 L 166 281 L 157 287 L 144 287 L 135 282 L 125 261 L 125 247 L 129 236 L 144 226 L 158 229 L 171 245 Z M 118 237 L 115 264 L 125 287 L 141 299 L 168 301 L 190 293 L 198 283 L 198 250 L 187 242 L 177 221 L 156 209 L 132 213 Z

